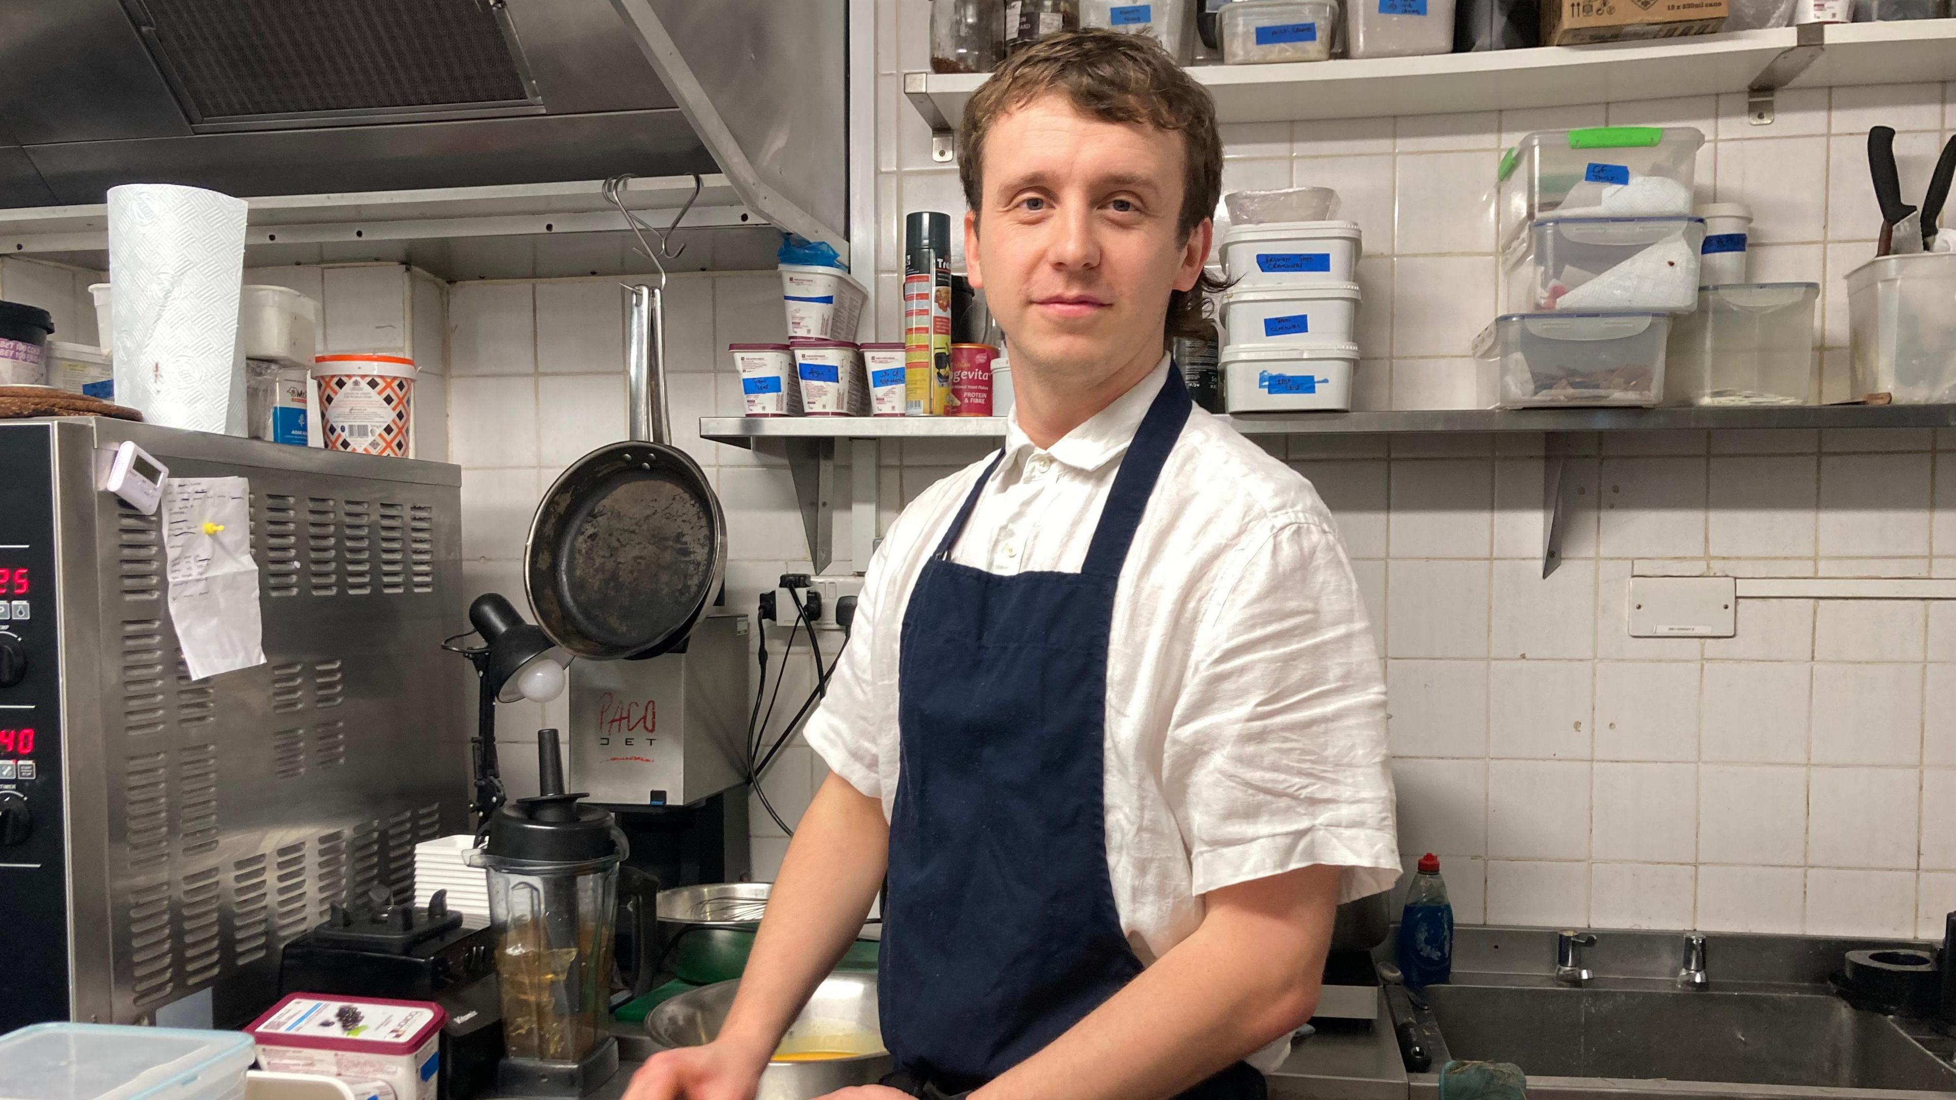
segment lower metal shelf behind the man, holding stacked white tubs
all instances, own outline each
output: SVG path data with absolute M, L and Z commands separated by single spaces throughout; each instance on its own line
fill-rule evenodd
M 1680 409 L 1408 409 L 1226 417 L 1242 435 L 1948 429 L 1956 405 L 1743 405 Z M 1001 438 L 1003 417 L 702 417 L 700 438 Z

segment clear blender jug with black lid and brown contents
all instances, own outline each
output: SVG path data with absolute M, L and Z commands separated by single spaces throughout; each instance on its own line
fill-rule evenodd
M 610 975 L 618 865 L 612 814 L 563 793 L 557 730 L 538 730 L 542 795 L 505 804 L 469 863 L 489 873 L 489 924 L 509 1053 L 505 1092 L 583 1096 L 618 1071 Z

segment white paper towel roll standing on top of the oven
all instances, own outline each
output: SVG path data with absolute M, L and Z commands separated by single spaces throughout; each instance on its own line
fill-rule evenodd
M 201 188 L 110 188 L 115 399 L 151 423 L 244 435 L 244 209 Z

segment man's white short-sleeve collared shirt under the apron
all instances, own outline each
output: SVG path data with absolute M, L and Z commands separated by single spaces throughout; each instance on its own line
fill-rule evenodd
M 1019 431 L 953 560 L 1080 572 L 1168 356 L 1041 450 Z M 892 812 L 898 642 L 910 591 L 986 464 L 917 497 L 865 577 L 808 720 L 829 769 Z M 1201 894 L 1314 863 L 1340 900 L 1399 877 L 1385 683 L 1324 501 L 1226 421 L 1189 411 L 1121 570 L 1107 650 L 1107 871 L 1144 963 L 1195 932 Z

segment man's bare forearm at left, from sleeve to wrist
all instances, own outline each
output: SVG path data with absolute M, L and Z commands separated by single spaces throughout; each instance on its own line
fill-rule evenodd
M 767 1061 L 782 1031 L 863 930 L 890 859 L 882 804 L 829 775 L 808 804 L 720 1039 Z

